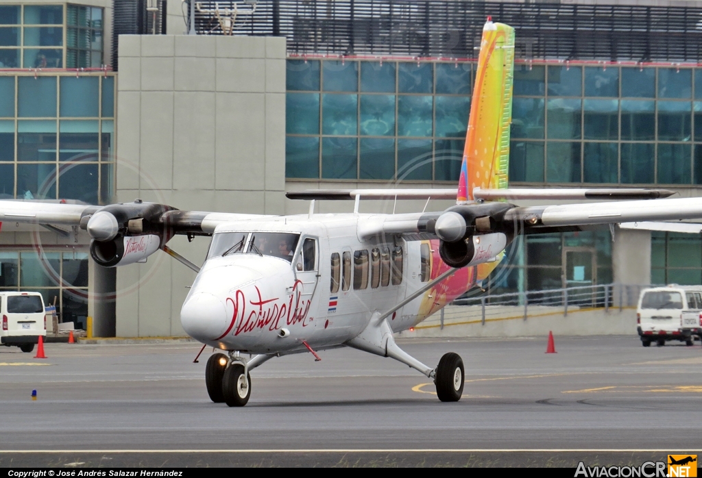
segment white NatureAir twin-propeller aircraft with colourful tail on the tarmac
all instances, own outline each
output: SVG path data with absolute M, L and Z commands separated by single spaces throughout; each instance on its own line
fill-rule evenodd
M 0 221 L 80 226 L 102 266 L 133 264 L 161 249 L 199 271 L 180 320 L 187 334 L 223 351 L 206 366 L 213 402 L 245 405 L 249 372 L 273 357 L 317 357 L 338 347 L 407 364 L 432 378 L 439 400 L 455 402 L 463 392 L 461 357 L 447 353 L 430 367 L 399 348 L 393 334 L 479 285 L 515 235 L 702 217 L 702 198 L 658 199 L 670 191 L 507 189 L 514 41 L 514 29 L 488 19 L 458 190 L 288 193 L 356 203 L 353 213 L 313 214 L 312 203 L 310 214 L 286 217 L 186 212 L 140 200 L 105 207 L 10 200 L 0 201 Z M 359 214 L 362 196 L 458 200 L 439 212 Z M 510 198 L 600 202 L 517 207 Z M 166 246 L 174 234 L 212 235 L 201 269 Z

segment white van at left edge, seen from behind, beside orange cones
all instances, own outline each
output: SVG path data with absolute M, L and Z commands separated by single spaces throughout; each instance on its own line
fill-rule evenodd
M 44 298 L 39 292 L 0 292 L 0 343 L 30 353 L 46 336 Z

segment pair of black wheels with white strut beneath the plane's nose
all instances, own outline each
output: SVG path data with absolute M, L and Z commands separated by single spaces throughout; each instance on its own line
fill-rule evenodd
M 237 352 L 230 352 L 229 357 L 215 353 L 207 360 L 205 367 L 205 385 L 210 400 L 226 403 L 230 407 L 244 407 L 251 397 L 251 376 L 249 370 L 255 369 L 273 355 L 256 355 L 245 360 Z

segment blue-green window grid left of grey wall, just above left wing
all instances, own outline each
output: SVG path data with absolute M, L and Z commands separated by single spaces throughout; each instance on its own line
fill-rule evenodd
M 0 198 L 109 203 L 114 76 L 3 76 L 0 88 Z

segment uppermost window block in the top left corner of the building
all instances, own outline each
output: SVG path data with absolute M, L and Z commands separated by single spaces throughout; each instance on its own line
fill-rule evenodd
M 0 68 L 102 67 L 102 8 L 0 6 Z

